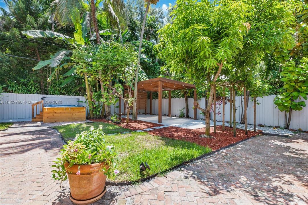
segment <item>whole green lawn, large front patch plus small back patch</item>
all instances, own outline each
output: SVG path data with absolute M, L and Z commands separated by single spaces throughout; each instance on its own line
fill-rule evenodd
M 96 126 L 98 127 L 99 124 L 101 123 L 97 123 Z M 55 128 L 65 139 L 72 139 L 76 133 L 89 128 L 90 125 L 94 125 L 94 123 L 57 126 Z M 110 127 L 106 125 L 109 131 L 111 131 L 111 127 L 118 127 L 113 124 L 109 125 Z M 112 180 L 113 182 L 137 181 L 149 175 L 164 172 L 170 167 L 212 151 L 209 147 L 153 136 L 147 132 L 106 135 L 105 140 L 110 145 L 114 145 L 115 150 L 119 153 L 116 163 L 120 174 Z M 147 169 L 140 174 L 139 165 L 145 161 L 151 169 Z

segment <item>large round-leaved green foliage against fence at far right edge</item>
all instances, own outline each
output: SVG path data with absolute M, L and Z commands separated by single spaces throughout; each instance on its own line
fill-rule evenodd
M 305 101 L 294 102 L 295 100 L 307 100 L 308 94 L 308 58 L 303 58 L 301 64 L 297 65 L 294 61 L 287 62 L 282 67 L 281 81 L 284 82 L 281 93 L 276 96 L 274 104 L 280 111 L 289 112 L 292 110 L 302 110 L 306 107 Z

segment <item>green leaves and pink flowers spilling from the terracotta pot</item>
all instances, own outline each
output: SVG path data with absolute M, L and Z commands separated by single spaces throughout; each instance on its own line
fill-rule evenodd
M 106 166 L 111 168 L 106 169 L 104 167 L 101 171 L 109 178 L 115 177 L 115 173 L 112 171 L 116 165 L 114 161 L 117 153 L 114 146 L 109 145 L 105 141 L 104 136 L 102 127 L 98 129 L 90 127 L 88 131 L 83 131 L 76 135 L 74 141 L 68 141 L 67 144 L 63 145 L 61 157 L 57 158 L 54 161 L 55 164 L 52 165 L 52 167 L 56 168 L 56 170 L 51 171 L 53 173 L 52 178 L 59 180 L 61 183 L 67 179 L 64 167 L 66 162 L 70 163 L 69 167 L 73 165 L 105 163 Z

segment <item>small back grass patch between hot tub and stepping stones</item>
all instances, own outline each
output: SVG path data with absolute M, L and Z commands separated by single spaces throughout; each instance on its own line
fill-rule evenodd
M 80 134 L 85 130 L 89 130 L 91 126 L 93 126 L 94 129 L 97 129 L 99 125 L 103 126 L 105 134 L 114 134 L 114 133 L 131 131 L 130 129 L 123 128 L 111 123 L 76 123 L 76 124 L 55 126 L 53 128 L 55 128 L 61 133 L 65 141 L 68 141 L 75 139 L 77 134 Z

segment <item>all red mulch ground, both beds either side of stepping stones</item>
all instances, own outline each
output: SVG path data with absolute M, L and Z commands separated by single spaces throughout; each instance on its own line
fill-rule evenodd
M 93 122 L 110 123 L 106 119 L 89 119 Z M 161 124 L 149 123 L 141 120 L 132 121 L 129 119 L 129 124 L 126 124 L 126 119 L 122 119 L 119 126 L 128 128 L 132 131 L 143 130 L 146 128 L 158 127 Z M 214 133 L 214 127 L 210 127 L 210 135 L 212 138 L 202 138 L 200 135 L 205 133 L 205 128 L 200 129 L 186 129 L 180 127 L 165 127 L 161 129 L 154 129 L 148 131 L 151 135 L 157 135 L 161 137 L 168 137 L 172 139 L 184 140 L 192 143 L 199 144 L 201 146 L 209 146 L 213 151 L 221 147 L 225 147 L 229 144 L 236 143 L 243 139 L 250 138 L 258 132 L 248 131 L 248 135 L 245 135 L 245 130 L 236 129 L 236 137 L 233 137 L 233 128 L 225 126 L 225 131 L 222 131 L 222 126 L 216 126 L 216 133 Z

